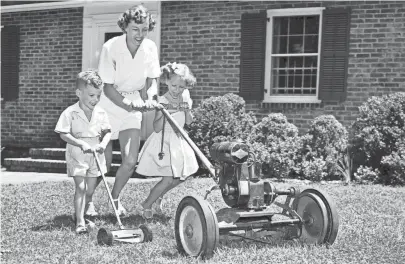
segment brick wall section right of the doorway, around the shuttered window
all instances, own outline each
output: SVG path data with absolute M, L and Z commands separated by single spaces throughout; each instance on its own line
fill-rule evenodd
M 161 61 L 183 62 L 197 77 L 191 96 L 198 104 L 210 96 L 239 90 L 240 18 L 266 9 L 350 6 L 350 57 L 347 100 L 343 103 L 266 104 L 248 101 L 259 118 L 284 113 L 305 130 L 314 117 L 333 114 L 344 125 L 372 95 L 405 91 L 405 2 L 162 2 Z

